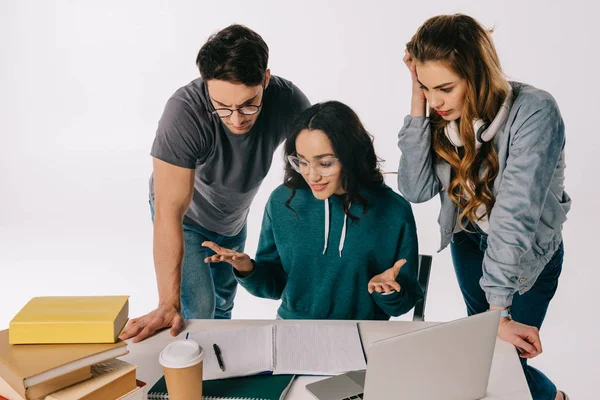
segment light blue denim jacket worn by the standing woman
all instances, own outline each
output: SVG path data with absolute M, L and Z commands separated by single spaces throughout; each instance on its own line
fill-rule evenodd
M 480 281 L 488 303 L 496 306 L 510 306 L 514 293 L 533 286 L 562 242 L 571 208 L 564 191 L 565 130 L 558 105 L 543 90 L 518 82 L 511 86 L 513 106 L 493 139 L 499 171 Z M 439 252 L 452 240 L 458 208 L 446 193 L 450 164 L 436 161 L 431 137 L 429 118 L 405 118 L 398 134 L 398 189 L 413 203 L 440 195 Z

